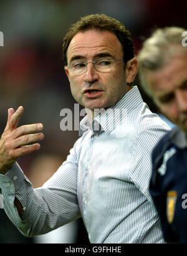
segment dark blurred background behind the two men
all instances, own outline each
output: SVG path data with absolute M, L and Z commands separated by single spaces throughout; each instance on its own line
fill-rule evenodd
M 70 24 L 93 13 L 115 17 L 132 33 L 137 54 L 157 27 L 186 27 L 186 8 L 185 0 L 1 0 L 0 133 L 6 126 L 9 107 L 16 110 L 24 106 L 20 125 L 44 124 L 41 150 L 18 160 L 35 187 L 62 164 L 79 137 L 77 130 L 60 130 L 60 110 L 69 108 L 74 113 L 76 103 L 62 60 L 62 39 Z M 135 85 L 140 87 L 138 77 Z M 140 91 L 150 109 L 158 112 L 141 87 Z M 57 232 L 26 239 L 0 209 L 0 243 L 88 243 L 82 220 Z

